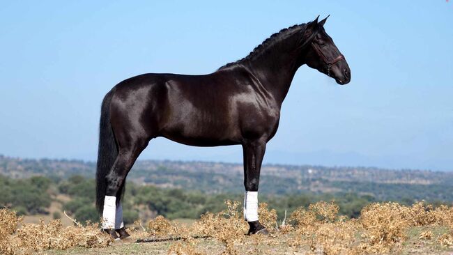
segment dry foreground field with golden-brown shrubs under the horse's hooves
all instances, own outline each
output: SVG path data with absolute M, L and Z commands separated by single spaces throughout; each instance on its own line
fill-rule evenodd
M 195 222 L 162 216 L 131 226 L 132 239 L 112 242 L 97 224 L 63 227 L 59 220 L 22 223 L 0 210 L 2 254 L 450 254 L 453 252 L 453 208 L 422 202 L 412 206 L 372 203 L 358 219 L 338 214 L 334 202 L 300 207 L 284 222 L 260 204 L 260 221 L 270 235 L 248 236 L 239 202 L 206 213 Z M 198 238 L 197 238 L 198 237 Z M 134 243 L 137 239 L 179 240 Z

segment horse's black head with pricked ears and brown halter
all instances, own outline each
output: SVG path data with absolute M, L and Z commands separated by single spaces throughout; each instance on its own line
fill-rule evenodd
M 316 20 L 307 24 L 304 37 L 311 41 L 307 41 L 305 63 L 334 78 L 337 84 L 348 84 L 351 81 L 351 70 L 332 38 L 325 33 L 325 20 L 327 17 L 318 22 L 316 17 Z

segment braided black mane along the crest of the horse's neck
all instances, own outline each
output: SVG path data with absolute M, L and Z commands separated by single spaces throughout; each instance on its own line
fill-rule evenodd
M 302 33 L 303 33 L 303 31 L 305 31 L 305 25 L 306 24 L 295 24 L 293 26 L 289 26 L 286 29 L 282 29 L 282 30 L 278 31 L 277 33 L 272 34 L 272 36 L 270 36 L 269 38 L 267 38 L 266 40 L 261 42 L 261 45 L 256 46 L 252 50 L 252 52 L 250 52 L 243 59 L 239 59 L 238 61 L 227 63 L 226 65 L 223 65 L 222 67 L 220 67 L 218 70 L 221 70 L 224 68 L 229 68 L 232 65 L 236 65 L 243 61 L 252 59 L 254 56 L 260 54 L 261 52 L 266 51 L 266 49 L 269 49 L 270 47 L 275 45 L 275 43 L 280 42 L 280 41 L 284 40 L 285 38 L 288 38 L 289 36 L 293 35 L 293 33 L 295 31 L 302 31 Z

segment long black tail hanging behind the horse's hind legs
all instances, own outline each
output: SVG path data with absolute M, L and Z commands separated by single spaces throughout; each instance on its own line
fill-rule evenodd
M 98 164 L 96 170 L 96 207 L 100 213 L 102 213 L 104 207 L 104 198 L 107 190 L 105 177 L 112 169 L 118 155 L 118 148 L 110 123 L 110 102 L 113 94 L 114 89 L 105 95 L 100 112 Z

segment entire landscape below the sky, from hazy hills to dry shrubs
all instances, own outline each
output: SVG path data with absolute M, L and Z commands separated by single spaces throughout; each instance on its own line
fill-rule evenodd
M 93 178 L 72 175 L 93 176 L 91 163 L 0 163 L 9 176 L 0 176 L 0 254 L 453 252 L 450 173 L 268 166 L 259 217 L 270 235 L 248 236 L 242 206 L 226 200 L 243 197 L 239 165 L 139 162 L 123 201 L 132 238 L 112 242 L 100 232 Z

